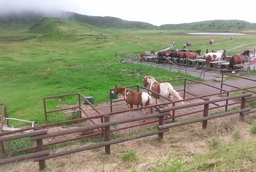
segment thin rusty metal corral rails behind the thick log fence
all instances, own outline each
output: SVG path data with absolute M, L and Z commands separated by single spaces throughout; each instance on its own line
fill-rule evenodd
M 244 78 L 244 77 L 240 77 L 240 76 L 234 76 L 234 77 Z M 244 79 L 246 79 L 246 78 L 244 78 Z M 250 80 L 252 80 L 252 79 L 250 79 Z M 195 81 L 195 80 L 192 80 L 192 79 L 186 79 L 186 78 L 183 78 L 183 79 L 173 79 L 173 80 L 168 80 L 168 81 L 163 81 L 163 82 L 170 82 L 170 83 L 172 83 L 172 82 L 175 82 L 175 81 L 183 81 L 184 82 L 183 89 L 180 89 L 180 90 L 177 90 L 177 91 L 183 92 L 183 101 L 185 101 L 185 102 L 186 101 L 195 100 L 195 99 L 207 100 L 207 99 L 209 99 L 208 97 L 210 97 L 210 96 L 216 96 L 216 95 L 220 95 L 220 94 L 225 94 L 228 97 L 231 92 L 235 92 L 235 91 L 239 91 L 239 90 L 248 90 L 250 88 L 256 88 L 256 86 L 252 86 L 252 87 L 247 87 L 247 88 L 238 88 L 236 90 L 224 90 L 222 88 L 223 87 L 222 85 L 224 85 L 223 82 L 222 82 L 221 88 L 218 88 L 218 87 L 209 85 L 207 83 L 198 82 L 198 81 Z M 256 82 L 256 80 L 253 80 L 253 81 Z M 219 90 L 221 93 L 218 92 L 218 93 L 208 94 L 208 95 L 204 95 L 204 96 L 198 96 L 198 95 L 195 95 L 194 93 L 192 93 L 187 88 L 187 83 L 188 82 L 190 82 L 190 83 L 191 82 L 195 82 L 195 83 L 198 83 L 198 84 L 203 84 L 203 85 L 205 85 L 205 86 L 207 86 L 209 88 L 214 88 L 216 90 Z M 145 88 L 145 87 L 143 87 L 141 85 L 131 85 L 131 86 L 127 86 L 127 87 L 128 88 L 132 88 L 133 87 L 137 91 L 139 91 L 140 89 L 144 89 L 144 90 L 151 91 L 152 93 L 155 93 L 154 91 L 149 90 L 148 88 Z M 206 87 L 206 89 L 207 89 L 207 87 Z M 234 87 L 236 87 L 236 86 L 234 86 Z M 110 89 L 110 93 L 112 91 L 113 91 L 113 88 Z M 161 96 L 158 93 L 155 93 L 155 94 Z M 185 99 L 186 98 L 186 94 L 192 95 L 194 97 Z M 47 111 L 46 102 L 45 102 L 46 99 L 53 99 L 53 98 L 64 97 L 64 96 L 76 96 L 76 95 L 78 95 L 79 106 L 75 106 L 75 107 L 72 107 L 72 108 L 64 108 L 64 109 Z M 110 105 L 109 105 L 110 113 L 105 113 L 105 115 L 103 115 L 103 114 L 101 114 L 98 111 L 98 114 L 99 114 L 98 116 L 89 116 L 89 114 L 86 113 L 86 110 L 83 110 L 82 107 L 81 107 L 81 97 L 82 97 L 82 99 L 84 99 L 85 102 L 88 102 L 88 104 L 90 104 L 90 102 L 84 96 L 82 96 L 80 93 L 66 94 L 66 95 L 60 95 L 60 96 L 50 96 L 50 97 L 44 97 L 43 98 L 44 112 L 45 112 L 45 117 L 46 118 L 47 118 L 47 113 L 58 112 L 58 111 L 65 111 L 65 110 L 70 110 L 70 109 L 78 108 L 80 110 L 80 118 L 78 118 L 78 119 L 73 119 L 73 120 L 68 120 L 68 121 L 61 121 L 61 122 L 57 122 L 57 123 L 53 123 L 53 124 L 44 124 L 44 125 L 35 126 L 35 127 L 28 127 L 28 128 L 24 128 L 24 129 L 20 129 L 20 130 L 15 130 L 15 131 L 9 131 L 9 132 L 6 132 L 6 133 L 2 133 L 2 135 L 9 135 L 9 134 L 19 133 L 19 132 L 29 131 L 29 130 L 39 130 L 39 129 L 44 129 L 44 128 L 47 128 L 47 127 L 59 126 L 59 125 L 62 125 L 62 124 L 70 124 L 70 123 L 73 123 L 73 122 L 86 121 L 86 120 L 91 120 L 93 124 L 96 124 L 96 121 L 94 121 L 93 119 L 99 119 L 99 118 L 101 119 L 101 123 L 103 123 L 104 121 L 102 120 L 102 118 L 104 118 L 104 116 L 106 114 L 108 114 L 108 115 L 115 115 L 115 114 L 121 114 L 121 113 L 136 111 L 136 110 L 142 110 L 144 108 L 144 107 L 137 107 L 137 108 L 134 108 L 134 109 L 122 110 L 122 111 L 117 110 L 116 112 L 113 112 L 113 106 L 119 105 L 119 104 L 115 104 L 115 103 L 122 102 L 122 101 L 124 101 L 124 99 L 113 101 L 112 100 L 112 96 L 110 96 Z M 163 96 L 161 96 L 161 97 L 163 97 Z M 162 104 L 154 104 L 154 105 L 149 106 L 149 107 L 154 107 L 155 109 L 159 110 L 158 106 L 172 104 L 172 106 L 175 107 L 178 102 L 181 102 L 181 101 L 173 102 L 172 100 L 170 100 L 170 99 L 168 99 L 166 97 L 163 97 L 163 98 L 166 99 L 168 102 L 162 103 Z M 255 100 L 255 99 L 252 99 L 252 100 L 248 99 L 248 100 L 246 100 L 246 102 L 253 101 L 253 100 Z M 226 103 L 224 105 L 219 105 L 219 104 L 217 104 L 215 102 L 212 102 L 211 104 L 214 104 L 215 107 L 211 107 L 211 108 L 209 108 L 209 110 L 225 107 L 225 111 L 227 111 L 229 106 L 241 103 L 241 102 L 229 103 L 228 100 L 225 100 L 225 101 L 226 101 Z M 99 108 L 99 107 L 94 107 L 93 104 L 90 104 L 90 106 L 93 109 Z M 168 116 L 165 116 L 164 117 L 164 121 L 172 119 L 172 122 L 174 122 L 175 118 L 179 118 L 179 117 L 182 117 L 182 116 L 188 116 L 188 115 L 192 115 L 192 114 L 195 114 L 195 113 L 204 112 L 204 110 L 198 110 L 198 111 L 192 111 L 192 112 L 191 112 L 191 110 L 188 110 L 188 111 L 189 111 L 188 113 L 182 113 L 182 114 L 178 114 L 177 115 L 177 114 L 175 114 L 176 111 L 172 110 L 172 115 L 169 114 Z M 83 112 L 87 117 L 81 118 L 81 112 Z M 143 125 L 146 125 L 146 124 L 153 124 L 153 123 L 157 123 L 158 121 L 159 121 L 159 119 L 152 120 L 152 121 L 147 121 L 147 122 L 142 122 L 142 123 L 136 124 L 136 125 L 130 125 L 128 127 L 119 127 L 119 128 L 116 128 L 116 129 L 112 129 L 111 132 L 125 130 L 125 129 L 131 129 L 131 128 L 143 126 Z M 82 135 L 82 136 L 79 136 L 79 137 L 76 137 L 76 138 L 68 138 L 68 139 L 65 139 L 65 140 L 62 140 L 62 141 L 55 141 L 55 142 L 52 142 L 52 143 L 44 144 L 44 147 L 49 147 L 49 146 L 52 146 L 52 145 L 55 145 L 55 144 L 62 144 L 62 143 L 69 142 L 69 141 L 76 141 L 76 140 L 80 140 L 82 138 L 90 138 L 90 137 L 97 136 L 97 135 L 102 135 L 103 136 L 104 128 L 102 127 L 101 129 L 98 129 L 98 130 L 99 130 L 99 132 L 97 132 L 97 133 Z M 17 152 L 29 151 L 29 150 L 33 150 L 33 149 L 36 149 L 36 147 L 28 147 L 28 148 L 20 149 L 20 150 L 17 150 Z

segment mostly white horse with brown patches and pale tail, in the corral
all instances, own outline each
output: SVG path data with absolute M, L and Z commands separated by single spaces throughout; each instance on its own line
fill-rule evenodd
M 178 93 L 176 90 L 174 90 L 172 85 L 168 82 L 160 83 L 160 82 L 157 82 L 152 76 L 144 76 L 143 77 L 143 85 L 144 85 L 144 87 L 148 86 L 149 90 L 152 90 L 152 91 L 160 94 L 161 96 L 164 96 L 171 100 L 173 97 L 175 97 L 175 99 L 177 99 L 177 100 L 183 100 L 180 97 L 180 93 Z M 156 104 L 157 104 L 158 99 L 159 99 L 159 101 L 163 100 L 163 102 L 167 101 L 166 99 L 160 97 L 156 93 L 152 93 L 149 91 L 149 95 L 156 99 Z M 184 102 L 180 102 L 180 103 L 184 104 Z M 171 104 L 169 104 L 169 106 L 171 106 Z

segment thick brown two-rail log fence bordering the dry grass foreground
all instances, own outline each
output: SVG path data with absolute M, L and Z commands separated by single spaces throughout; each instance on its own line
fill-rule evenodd
M 208 116 L 209 104 L 215 103 L 215 102 L 231 100 L 231 99 L 237 99 L 237 98 L 242 99 L 241 100 L 241 106 L 240 106 L 239 110 L 234 110 L 234 111 L 230 111 L 230 112 L 226 112 L 226 113 L 221 113 L 221 114 L 214 115 L 214 116 Z M 111 153 L 111 147 L 110 147 L 111 144 L 117 144 L 117 143 L 130 141 L 130 140 L 134 140 L 134 139 L 137 139 L 137 138 L 143 138 L 143 137 L 146 137 L 146 136 L 156 135 L 156 134 L 161 139 L 163 139 L 163 133 L 168 132 L 169 128 L 171 128 L 171 127 L 177 127 L 177 126 L 181 126 L 181 125 L 186 125 L 186 124 L 191 124 L 191 123 L 203 121 L 202 127 L 206 128 L 207 127 L 207 120 L 213 119 L 213 118 L 219 118 L 219 117 L 222 117 L 222 116 L 232 115 L 232 114 L 235 114 L 235 113 L 240 113 L 241 120 L 243 120 L 244 115 L 255 112 L 254 110 L 251 110 L 250 108 L 245 108 L 246 100 L 253 99 L 253 98 L 255 98 L 255 96 L 253 96 L 253 93 L 243 92 L 242 94 L 238 94 L 238 95 L 234 95 L 234 96 L 228 96 L 228 97 L 223 97 L 223 98 L 218 98 L 218 99 L 211 99 L 211 100 L 205 99 L 205 101 L 203 101 L 203 102 L 195 102 L 195 103 L 184 104 L 184 105 L 175 106 L 175 107 L 167 107 L 167 108 L 164 108 L 164 109 L 159 109 L 158 110 L 159 113 L 153 113 L 153 114 L 148 114 L 148 115 L 133 117 L 133 118 L 125 118 L 125 119 L 121 119 L 121 120 L 111 121 L 110 116 L 105 115 L 104 116 L 104 123 L 89 125 L 89 126 L 85 126 L 85 127 L 72 128 L 72 129 L 63 130 L 63 131 L 59 131 L 59 132 L 47 133 L 47 130 L 38 130 L 38 131 L 30 132 L 30 133 L 19 133 L 19 134 L 14 134 L 14 135 L 1 136 L 0 137 L 0 142 L 14 140 L 14 139 L 17 139 L 17 138 L 30 137 L 31 141 L 36 141 L 38 152 L 27 154 L 27 155 L 21 155 L 21 156 L 17 156 L 17 157 L 12 157 L 12 158 L 2 159 L 2 160 L 0 160 L 0 165 L 9 164 L 9 163 L 12 163 L 12 162 L 22 161 L 22 160 L 25 160 L 25 159 L 33 158 L 34 162 L 39 162 L 39 169 L 43 170 L 46 167 L 45 160 L 47 160 L 47 159 L 55 158 L 55 157 L 59 157 L 59 156 L 63 156 L 63 155 L 69 155 L 69 154 L 76 153 L 76 152 L 81 152 L 81 151 L 84 151 L 84 150 L 96 149 L 96 148 L 99 148 L 99 147 L 105 147 L 105 153 L 110 154 Z M 183 122 L 177 122 L 177 123 L 174 123 L 174 124 L 164 125 L 164 116 L 169 115 L 171 110 L 173 111 L 173 110 L 177 110 L 177 109 L 183 109 L 183 108 L 200 106 L 200 105 L 204 105 L 204 113 L 203 113 L 204 117 L 194 119 L 194 120 L 189 120 L 189 121 L 183 121 Z M 110 127 L 111 126 L 116 125 L 116 124 L 123 124 L 123 123 L 132 122 L 132 121 L 140 121 L 140 120 L 143 120 L 143 119 L 156 118 L 156 117 L 159 117 L 159 123 L 158 123 L 157 130 L 147 132 L 147 133 L 140 133 L 138 135 L 132 135 L 132 136 L 124 137 L 124 138 L 118 138 L 118 139 L 111 140 L 111 137 L 110 137 Z M 68 150 L 64 150 L 64 151 L 61 151 L 61 152 L 49 153 L 48 151 L 44 151 L 43 139 L 45 139 L 45 138 L 52 138 L 52 137 L 55 137 L 55 136 L 67 135 L 67 134 L 77 133 L 77 132 L 81 132 L 81 131 L 89 131 L 89 130 L 102 128 L 102 127 L 104 127 L 104 135 L 105 135 L 105 141 L 102 142 L 102 143 L 91 144 L 91 145 L 78 147 L 78 148 L 74 148 L 74 149 L 68 149 Z

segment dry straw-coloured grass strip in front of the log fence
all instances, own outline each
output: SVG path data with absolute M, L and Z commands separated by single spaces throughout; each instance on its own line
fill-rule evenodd
M 256 144 L 251 133 L 256 114 L 247 115 L 244 122 L 238 116 L 209 120 L 206 130 L 200 122 L 175 127 L 164 134 L 163 141 L 154 135 L 112 145 L 111 155 L 105 155 L 102 147 L 49 159 L 45 172 L 256 171 Z M 38 163 L 23 161 L 0 167 L 0 172 L 25 171 L 39 171 Z

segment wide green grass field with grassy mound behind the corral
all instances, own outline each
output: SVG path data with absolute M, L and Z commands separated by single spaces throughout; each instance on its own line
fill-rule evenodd
M 154 76 L 158 81 L 177 78 L 192 78 L 167 70 L 149 68 L 136 64 L 104 64 L 109 63 L 113 53 L 140 53 L 155 49 L 156 51 L 170 47 L 183 48 L 188 39 L 192 42 L 192 50 L 207 48 L 228 49 L 237 45 L 256 42 L 256 34 L 235 36 L 198 36 L 174 31 L 131 31 L 101 29 L 95 26 L 70 20 L 45 19 L 31 25 L 13 25 L 1 28 L 0 39 L 0 102 L 5 102 L 9 117 L 24 120 L 35 120 L 43 124 L 44 96 L 55 96 L 80 92 L 84 96 L 95 97 L 96 104 L 109 100 L 109 89 L 116 84 L 122 86 L 140 84 L 145 75 Z M 77 28 L 77 30 L 66 29 Z M 30 29 L 29 29 L 30 28 Z M 88 32 L 87 30 L 90 30 Z M 102 36 L 97 34 L 102 32 Z M 143 37 L 143 41 L 140 40 Z M 159 40 L 159 37 L 162 39 Z M 209 39 L 215 39 L 219 45 L 210 46 Z M 163 43 L 167 44 L 163 44 Z M 206 47 L 202 47 L 208 45 Z M 198 48 L 193 48 L 198 47 Z M 241 54 L 248 45 L 230 51 Z M 112 60 L 110 62 L 113 62 Z M 100 65 L 100 64 L 104 65 Z M 175 82 L 173 85 L 182 85 Z M 58 99 L 47 101 L 47 109 L 58 109 Z M 75 104 L 77 97 L 70 96 L 61 104 Z M 71 116 L 49 114 L 49 122 L 64 121 Z M 24 122 L 10 121 L 14 127 L 26 125 Z

